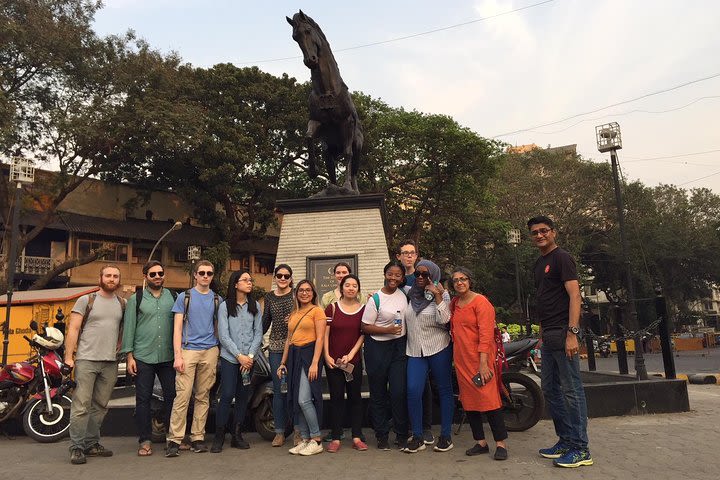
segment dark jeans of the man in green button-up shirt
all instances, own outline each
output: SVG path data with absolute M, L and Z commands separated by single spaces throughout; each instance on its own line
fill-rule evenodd
M 172 411 L 173 400 L 175 400 L 175 369 L 173 362 L 145 363 L 135 359 L 137 374 L 135 375 L 135 423 L 138 430 L 138 441 L 140 443 L 151 440 L 152 426 L 150 424 L 152 414 L 150 401 L 152 400 L 155 375 L 160 380 L 163 390 L 163 424 L 165 428 L 170 426 L 170 412 Z

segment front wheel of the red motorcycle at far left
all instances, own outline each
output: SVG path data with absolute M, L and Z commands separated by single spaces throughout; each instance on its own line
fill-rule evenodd
M 36 442 L 57 442 L 69 433 L 71 404 L 67 395 L 55 397 L 48 412 L 44 399 L 33 400 L 23 413 L 23 430 Z

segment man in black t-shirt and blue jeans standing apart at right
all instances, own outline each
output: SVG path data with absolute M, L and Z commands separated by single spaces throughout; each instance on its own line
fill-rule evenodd
M 542 389 L 559 437 L 539 453 L 558 467 L 592 465 L 578 356 L 582 300 L 575 260 L 555 243 L 551 219 L 533 217 L 527 226 L 541 254 L 535 262 L 535 303 L 543 341 Z

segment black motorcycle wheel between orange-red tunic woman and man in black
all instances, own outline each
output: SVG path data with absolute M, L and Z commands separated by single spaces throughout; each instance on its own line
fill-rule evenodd
M 540 386 L 520 372 L 503 373 L 503 383 L 510 398 L 503 395 L 505 427 L 510 432 L 523 432 L 537 424 L 545 410 L 545 399 Z

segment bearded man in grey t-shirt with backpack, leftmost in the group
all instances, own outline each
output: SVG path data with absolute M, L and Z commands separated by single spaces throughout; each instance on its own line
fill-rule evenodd
M 100 444 L 100 425 L 117 380 L 116 353 L 125 309 L 125 300 L 115 293 L 120 288 L 120 269 L 104 266 L 99 286 L 97 292 L 78 298 L 65 337 L 65 363 L 75 368 L 77 382 L 70 407 L 70 463 L 75 465 L 86 463 L 86 457 L 112 456 Z

